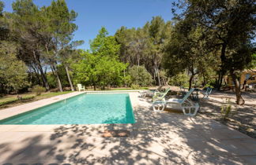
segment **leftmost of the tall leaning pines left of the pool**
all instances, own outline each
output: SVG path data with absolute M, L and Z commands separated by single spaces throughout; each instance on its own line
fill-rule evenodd
M 43 71 L 45 58 L 41 38 L 43 29 L 47 28 L 42 14 L 32 0 L 17 0 L 13 2 L 13 13 L 6 13 L 9 23 L 10 36 L 19 43 L 18 57 L 43 80 L 47 90 L 50 89 L 47 77 Z

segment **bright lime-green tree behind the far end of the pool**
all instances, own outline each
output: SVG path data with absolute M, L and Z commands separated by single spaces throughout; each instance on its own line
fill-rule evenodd
M 81 52 L 81 61 L 73 64 L 76 83 L 87 86 L 120 86 L 127 79 L 125 70 L 128 64 L 119 61 L 119 44 L 113 36 L 107 36 L 107 29 L 102 27 L 99 34 L 90 42 L 90 50 Z

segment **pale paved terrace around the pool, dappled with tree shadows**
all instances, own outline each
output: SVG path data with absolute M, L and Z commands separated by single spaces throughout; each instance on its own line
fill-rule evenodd
M 137 91 L 115 92 L 130 94 L 137 123 L 0 125 L 0 164 L 256 164 L 254 138 L 201 116 L 153 112 Z M 0 119 L 77 94 L 6 108 Z M 103 138 L 105 130 L 130 136 Z

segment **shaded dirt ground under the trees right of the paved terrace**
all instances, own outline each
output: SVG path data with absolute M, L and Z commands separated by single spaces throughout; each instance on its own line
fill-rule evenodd
M 171 86 L 171 91 L 180 91 L 179 87 Z M 235 105 L 235 93 L 232 91 L 213 90 L 209 99 L 203 99 L 204 90 L 199 91 L 199 116 L 215 119 L 228 127 L 239 130 L 252 138 L 256 138 L 256 92 L 243 92 L 245 105 Z M 227 104 L 232 106 L 228 117 L 223 119 L 221 107 Z

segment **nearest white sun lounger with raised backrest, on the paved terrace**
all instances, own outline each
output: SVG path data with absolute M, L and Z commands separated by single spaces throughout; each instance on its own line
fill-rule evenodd
M 155 112 L 163 111 L 165 107 L 170 106 L 175 109 L 183 110 L 185 116 L 195 116 L 198 112 L 199 105 L 193 101 L 190 101 L 188 97 L 194 88 L 191 88 L 189 92 L 183 97 L 183 99 L 171 98 L 168 101 L 156 101 L 153 103 L 152 108 Z

